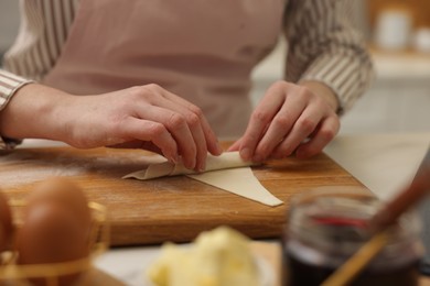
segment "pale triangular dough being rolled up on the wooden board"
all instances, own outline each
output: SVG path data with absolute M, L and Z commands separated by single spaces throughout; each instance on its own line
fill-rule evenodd
M 208 156 L 205 173 L 197 174 L 185 168 L 182 164 L 174 165 L 170 162 L 163 162 L 128 174 L 122 178 L 144 180 L 163 176 L 186 175 L 190 178 L 267 206 L 282 205 L 282 201 L 271 195 L 254 176 L 249 167 L 251 165 L 254 165 L 251 162 L 243 161 L 238 152 L 227 152 L 221 156 Z

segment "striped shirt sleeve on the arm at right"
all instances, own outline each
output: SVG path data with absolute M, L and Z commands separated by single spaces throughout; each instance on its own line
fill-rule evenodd
M 286 80 L 315 80 L 337 96 L 338 113 L 368 88 L 373 64 L 352 22 L 354 0 L 290 0 L 284 18 L 289 43 Z

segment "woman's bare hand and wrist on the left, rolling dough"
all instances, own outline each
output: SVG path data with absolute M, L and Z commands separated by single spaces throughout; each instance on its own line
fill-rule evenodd
M 79 148 L 144 148 L 204 170 L 222 148 L 200 108 L 158 85 L 95 96 L 22 87 L 0 112 L 0 134 L 63 141 Z

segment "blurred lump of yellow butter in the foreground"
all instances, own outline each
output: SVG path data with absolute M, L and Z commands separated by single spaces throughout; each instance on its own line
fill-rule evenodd
M 157 286 L 259 285 L 248 238 L 227 227 L 202 232 L 190 248 L 165 243 L 147 274 Z

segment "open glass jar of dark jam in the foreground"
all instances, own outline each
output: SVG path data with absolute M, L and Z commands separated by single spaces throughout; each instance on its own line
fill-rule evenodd
M 368 220 L 381 204 L 363 189 L 315 189 L 293 197 L 283 238 L 283 285 L 321 285 L 368 241 Z M 351 285 L 418 285 L 422 253 L 420 221 L 404 215 L 387 245 Z

